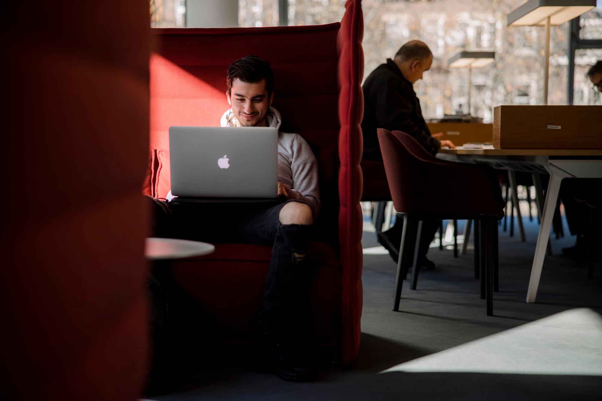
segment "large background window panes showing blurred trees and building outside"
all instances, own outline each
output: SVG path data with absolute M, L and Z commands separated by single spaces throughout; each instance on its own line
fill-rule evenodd
M 431 70 L 415 85 L 427 119 L 456 110 L 468 111 L 468 71 L 447 67 L 447 60 L 462 50 L 495 51 L 495 63 L 473 69 L 473 116 L 491 122 L 497 105 L 543 104 L 545 28 L 506 26 L 506 15 L 525 1 L 364 0 L 364 78 L 386 58 L 393 57 L 403 43 L 421 39 L 435 56 Z M 170 16 L 169 21 L 154 22 L 154 26 L 182 26 L 178 25 L 183 19 L 178 17 L 178 10 L 182 11 L 184 0 L 151 3 L 169 10 L 163 14 Z M 329 23 L 341 20 L 344 5 L 345 0 L 238 0 L 238 22 L 240 26 Z M 576 45 L 574 59 L 569 49 L 574 28 L 569 25 L 551 28 L 548 104 L 571 101 L 568 93 L 573 90 L 573 80 L 568 76 L 573 68 L 574 103 L 602 104 L 600 94 L 591 90 L 585 77 L 589 66 L 602 58 L 601 51 L 595 49 L 600 46 L 594 43 L 602 40 L 600 2 L 598 8 L 579 20 L 578 40 L 592 45 L 587 49 Z

